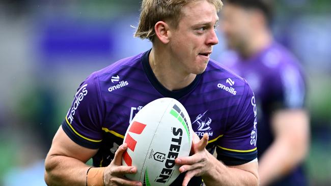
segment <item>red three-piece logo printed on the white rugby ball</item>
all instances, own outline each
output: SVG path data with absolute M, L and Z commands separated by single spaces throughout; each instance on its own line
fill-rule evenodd
M 137 121 L 134 121 L 132 123 L 132 126 L 129 129 L 129 132 L 134 133 L 134 134 L 142 134 L 142 132 L 144 131 L 146 125 Z M 132 151 L 134 151 L 135 149 L 135 145 L 137 144 L 137 141 L 135 141 L 131 136 L 130 133 L 128 133 L 128 135 L 125 138 L 124 143 L 126 143 L 128 145 L 128 148 Z M 128 154 L 127 151 L 125 151 L 123 153 L 123 159 L 124 162 L 126 163 L 126 165 L 131 166 L 132 165 L 132 158 L 130 157 L 130 155 Z

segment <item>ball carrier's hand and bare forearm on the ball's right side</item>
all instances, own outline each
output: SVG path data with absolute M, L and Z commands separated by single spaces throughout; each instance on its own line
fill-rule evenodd
M 199 140 L 194 134 L 194 152 L 190 157 L 176 159 L 183 165 L 180 172 L 187 171 L 182 185 L 187 185 L 193 176 L 202 176 L 206 185 L 258 185 L 258 163 L 249 162 L 238 166 L 226 166 L 206 150 L 208 135 Z

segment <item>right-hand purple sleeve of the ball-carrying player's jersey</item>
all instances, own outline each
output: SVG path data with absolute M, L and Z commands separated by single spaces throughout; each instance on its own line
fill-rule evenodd
M 241 165 L 257 159 L 257 109 L 255 96 L 245 81 L 244 92 L 232 122 L 217 140 L 217 159 L 226 165 Z

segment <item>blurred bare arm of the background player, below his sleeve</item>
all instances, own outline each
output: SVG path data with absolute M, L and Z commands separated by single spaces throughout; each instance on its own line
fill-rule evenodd
M 285 109 L 272 115 L 275 139 L 259 160 L 260 184 L 285 175 L 304 160 L 309 147 L 309 119 L 305 110 Z

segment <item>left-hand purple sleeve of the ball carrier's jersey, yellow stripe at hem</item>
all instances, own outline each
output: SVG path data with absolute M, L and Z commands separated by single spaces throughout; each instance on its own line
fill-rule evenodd
M 78 145 L 99 148 L 104 115 L 101 99 L 98 77 L 92 74 L 80 84 L 62 122 L 64 132 Z

